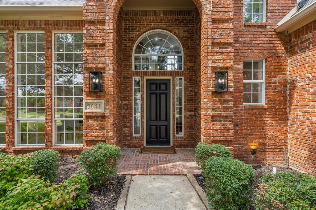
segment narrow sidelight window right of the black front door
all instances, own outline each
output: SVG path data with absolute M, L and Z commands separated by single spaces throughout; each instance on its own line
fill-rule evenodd
M 176 136 L 183 136 L 183 77 L 176 78 Z

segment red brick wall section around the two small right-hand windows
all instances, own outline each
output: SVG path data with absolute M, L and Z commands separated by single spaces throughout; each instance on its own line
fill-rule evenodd
M 296 1 L 266 1 L 266 23 L 243 23 L 234 1 L 234 157 L 250 164 L 284 164 L 287 148 L 288 34 L 274 28 Z M 265 58 L 265 106 L 243 106 L 243 59 Z M 257 154 L 250 155 L 256 148 Z

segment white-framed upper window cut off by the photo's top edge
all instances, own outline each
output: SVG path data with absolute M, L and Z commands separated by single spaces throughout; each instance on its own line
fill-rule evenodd
M 265 0 L 244 0 L 244 22 L 265 22 Z

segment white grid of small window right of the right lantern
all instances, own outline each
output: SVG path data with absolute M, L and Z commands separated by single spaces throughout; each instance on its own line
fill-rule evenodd
M 264 59 L 244 59 L 245 61 L 251 61 L 252 62 L 252 69 L 243 69 L 243 73 L 245 73 L 245 71 L 251 71 L 252 72 L 252 80 L 245 80 L 243 79 L 243 83 L 244 86 L 245 84 L 251 84 L 251 92 L 245 92 L 245 90 L 243 90 L 243 97 L 245 94 L 251 94 L 251 103 L 245 103 L 244 105 L 264 105 L 265 103 L 265 60 Z M 262 61 L 262 69 L 254 69 L 253 68 L 253 61 Z M 253 72 L 254 71 L 262 71 L 262 80 L 253 80 Z M 253 84 L 255 83 L 259 83 L 261 84 L 261 90 L 262 92 L 253 92 Z M 261 103 L 253 103 L 253 94 L 261 94 Z M 260 96 L 260 95 L 259 95 Z M 260 100 L 258 98 L 258 100 Z

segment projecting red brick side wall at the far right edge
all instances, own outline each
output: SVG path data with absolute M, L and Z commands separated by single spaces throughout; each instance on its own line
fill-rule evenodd
M 289 162 L 316 175 L 316 20 L 289 37 Z

